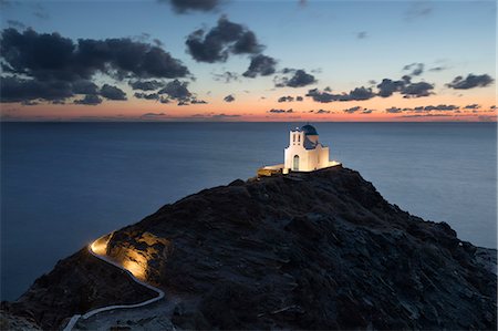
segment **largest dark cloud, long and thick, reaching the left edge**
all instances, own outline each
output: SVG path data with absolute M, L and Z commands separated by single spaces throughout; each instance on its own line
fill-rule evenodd
M 123 77 L 181 77 L 189 72 L 179 60 L 148 43 L 122 39 L 80 39 L 59 33 L 6 29 L 0 45 L 6 71 L 38 80 L 90 80 L 97 72 Z

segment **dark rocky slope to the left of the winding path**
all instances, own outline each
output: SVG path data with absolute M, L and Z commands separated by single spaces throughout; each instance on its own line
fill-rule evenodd
M 44 330 L 54 330 L 73 314 L 110 304 L 137 303 L 155 296 L 123 270 L 96 259 L 84 248 L 59 261 L 21 298 L 15 302 L 2 302 L 1 308 Z

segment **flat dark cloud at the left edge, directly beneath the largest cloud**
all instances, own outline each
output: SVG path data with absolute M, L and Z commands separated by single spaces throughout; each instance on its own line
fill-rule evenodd
M 6 76 L 2 77 L 0 84 L 1 102 L 55 101 L 73 95 L 73 86 L 64 81 L 39 81 Z

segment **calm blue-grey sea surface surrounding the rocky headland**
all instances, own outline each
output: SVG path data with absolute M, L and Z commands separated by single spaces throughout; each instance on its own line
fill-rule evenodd
M 1 299 L 92 239 L 281 163 L 295 123 L 2 123 Z M 393 204 L 496 247 L 492 123 L 318 123 Z

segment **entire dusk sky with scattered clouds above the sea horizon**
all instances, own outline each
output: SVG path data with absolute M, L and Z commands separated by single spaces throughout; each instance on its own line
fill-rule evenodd
M 496 1 L 0 0 L 2 121 L 496 121 Z

